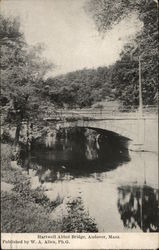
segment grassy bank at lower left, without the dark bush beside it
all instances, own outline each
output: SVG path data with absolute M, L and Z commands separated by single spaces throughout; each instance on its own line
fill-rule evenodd
M 1 145 L 1 181 L 13 185 L 1 192 L 2 232 L 59 232 L 60 225 L 49 219 L 58 204 L 50 202 L 42 190 L 32 190 L 30 178 L 20 168 L 11 165 L 14 149 Z

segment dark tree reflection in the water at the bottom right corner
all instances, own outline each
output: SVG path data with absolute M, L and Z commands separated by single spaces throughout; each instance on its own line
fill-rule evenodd
M 118 210 L 124 227 L 158 232 L 158 190 L 147 185 L 118 188 Z

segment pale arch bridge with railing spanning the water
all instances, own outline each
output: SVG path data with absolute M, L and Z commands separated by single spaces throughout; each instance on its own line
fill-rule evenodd
M 66 115 L 67 113 L 67 115 Z M 58 119 L 57 119 L 58 118 Z M 64 112 L 45 120 L 56 122 L 58 128 L 82 127 L 111 131 L 129 139 L 129 149 L 136 151 L 157 151 L 157 114 L 139 116 L 138 113 L 103 115 L 101 112 Z

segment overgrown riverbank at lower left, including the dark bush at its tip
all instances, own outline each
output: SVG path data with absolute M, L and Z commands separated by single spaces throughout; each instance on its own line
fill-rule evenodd
M 80 200 L 50 201 L 14 157 L 15 148 L 1 145 L 1 231 L 3 233 L 97 232 Z M 59 216 L 61 207 L 67 210 Z M 69 208 L 69 209 L 68 209 Z

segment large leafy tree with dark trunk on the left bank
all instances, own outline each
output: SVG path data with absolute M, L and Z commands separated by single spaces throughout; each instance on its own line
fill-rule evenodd
M 52 65 L 40 56 L 42 46 L 29 47 L 17 18 L 0 16 L 1 104 L 5 122 L 16 125 L 15 144 L 22 121 L 32 120 L 45 94 L 43 80 Z M 6 115 L 5 115 L 6 114 Z

